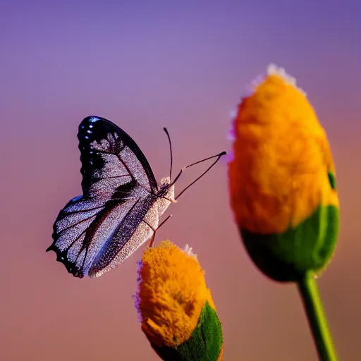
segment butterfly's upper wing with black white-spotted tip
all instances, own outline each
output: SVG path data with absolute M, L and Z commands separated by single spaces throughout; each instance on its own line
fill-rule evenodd
M 85 197 L 113 195 L 119 185 L 130 180 L 137 181 L 149 192 L 157 190 L 157 181 L 144 154 L 135 141 L 111 121 L 95 116 L 85 118 L 80 123 L 78 139 Z

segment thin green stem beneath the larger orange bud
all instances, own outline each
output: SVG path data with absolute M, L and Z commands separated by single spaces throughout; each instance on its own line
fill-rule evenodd
M 336 349 L 332 341 L 329 325 L 327 324 L 321 296 L 319 295 L 319 288 L 313 274 L 305 274 L 305 277 L 298 282 L 298 290 L 300 291 L 308 323 L 312 330 L 319 360 L 337 361 Z

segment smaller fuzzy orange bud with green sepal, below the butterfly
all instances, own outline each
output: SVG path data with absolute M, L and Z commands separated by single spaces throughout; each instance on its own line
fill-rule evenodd
M 197 255 L 169 240 L 145 250 L 135 305 L 162 360 L 221 360 L 223 336 Z

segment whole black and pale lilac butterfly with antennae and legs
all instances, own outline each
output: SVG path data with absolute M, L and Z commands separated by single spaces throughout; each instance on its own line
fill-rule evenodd
M 174 181 L 170 171 L 157 183 L 135 141 L 111 121 L 88 116 L 80 123 L 78 140 L 83 194 L 59 212 L 47 251 L 56 252 L 56 260 L 81 279 L 114 269 L 149 238 L 152 245 L 157 229 L 170 217 L 159 224 L 161 215 L 176 202 L 174 183 L 185 168 L 200 161 L 184 167 Z M 216 161 L 224 154 L 214 156 Z

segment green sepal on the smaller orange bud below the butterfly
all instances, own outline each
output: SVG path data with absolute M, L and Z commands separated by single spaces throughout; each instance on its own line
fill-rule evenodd
M 187 341 L 171 348 L 152 345 L 164 361 L 216 361 L 221 352 L 223 334 L 216 311 L 208 302 L 200 312 L 200 319 Z

